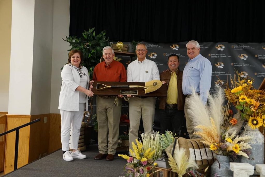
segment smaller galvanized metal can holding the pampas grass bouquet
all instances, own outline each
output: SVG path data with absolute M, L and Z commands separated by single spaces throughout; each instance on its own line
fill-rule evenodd
M 233 171 L 230 170 L 229 156 L 216 154 L 216 160 L 211 165 L 211 177 L 214 176 L 233 176 Z M 219 168 L 220 167 L 220 168 Z

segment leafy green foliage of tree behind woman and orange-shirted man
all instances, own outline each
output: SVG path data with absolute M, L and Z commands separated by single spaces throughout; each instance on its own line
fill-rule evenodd
M 99 34 L 95 34 L 95 28 L 89 29 L 89 31 L 84 31 L 81 37 L 77 36 L 65 36 L 64 41 L 69 42 L 71 48 L 78 49 L 83 53 L 83 66 L 85 66 L 92 78 L 93 70 L 100 62 L 100 57 L 102 56 L 102 49 L 109 45 L 109 38 L 106 37 L 106 31 L 101 31 Z

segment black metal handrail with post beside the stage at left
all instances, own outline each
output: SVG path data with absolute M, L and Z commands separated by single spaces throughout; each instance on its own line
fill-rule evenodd
M 3 133 L 0 133 L 0 136 L 3 136 L 3 135 L 6 135 L 7 133 L 11 133 L 11 132 L 13 132 L 13 131 L 16 131 L 16 139 L 15 139 L 16 144 L 15 144 L 15 161 L 14 161 L 14 170 L 17 169 L 17 156 L 18 156 L 19 129 L 20 129 L 20 128 L 23 128 L 23 127 L 27 127 L 28 125 L 31 125 L 31 124 L 33 124 L 33 123 L 39 122 L 40 120 L 41 120 L 41 119 L 36 119 L 36 120 L 33 120 L 33 121 L 29 122 L 29 123 L 26 123 L 26 124 L 24 124 L 24 125 L 21 125 L 21 126 L 19 126 L 19 127 L 13 128 L 13 129 L 8 130 L 8 131 L 3 132 Z

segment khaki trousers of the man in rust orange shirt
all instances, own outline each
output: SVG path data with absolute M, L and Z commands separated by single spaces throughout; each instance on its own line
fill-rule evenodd
M 118 144 L 120 119 L 121 119 L 121 101 L 116 107 L 114 98 L 96 97 L 97 119 L 98 119 L 98 144 L 99 153 L 116 153 Z

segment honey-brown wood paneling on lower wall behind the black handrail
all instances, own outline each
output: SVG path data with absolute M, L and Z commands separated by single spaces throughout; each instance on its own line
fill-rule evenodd
M 44 123 L 47 117 L 47 123 Z M 24 166 L 39 157 L 55 152 L 61 148 L 60 114 L 10 115 L 7 114 L 7 130 L 18 127 L 32 120 L 41 120 L 20 129 L 17 167 Z M 6 137 L 6 155 L 4 174 L 14 170 L 15 132 Z

